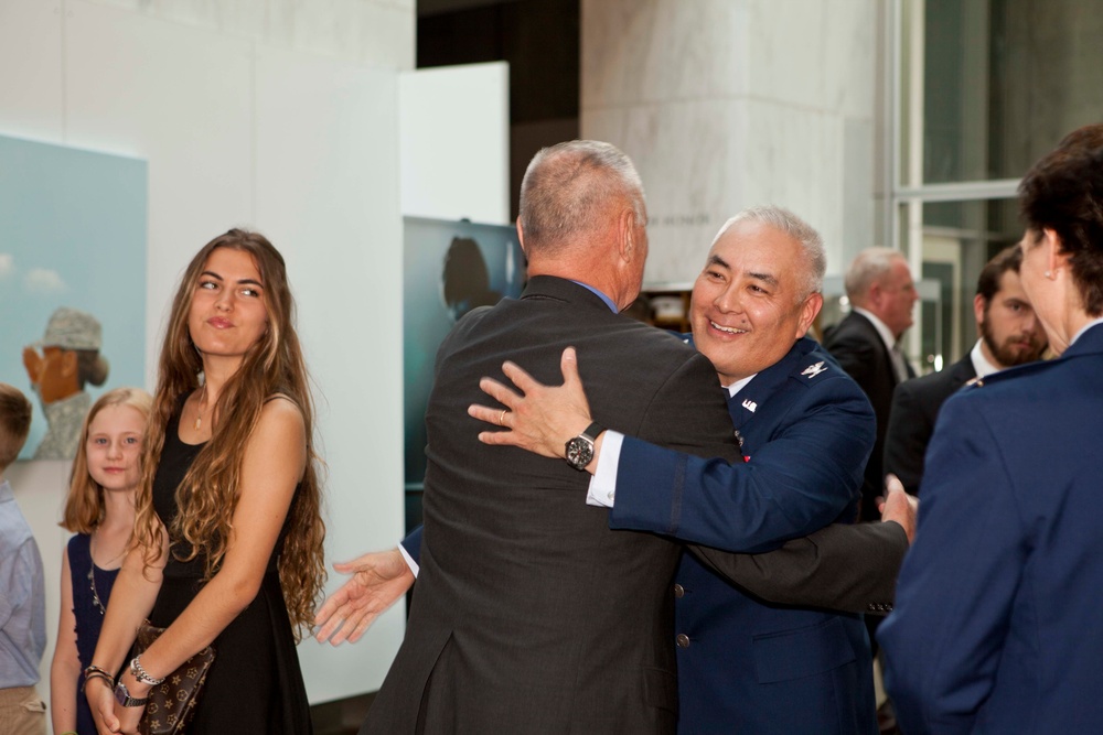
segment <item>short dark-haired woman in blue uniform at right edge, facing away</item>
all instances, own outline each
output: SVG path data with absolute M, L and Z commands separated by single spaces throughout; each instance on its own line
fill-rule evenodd
M 951 398 L 881 625 L 900 727 L 1103 732 L 1103 125 L 1019 185 L 1022 288 L 1061 355 Z

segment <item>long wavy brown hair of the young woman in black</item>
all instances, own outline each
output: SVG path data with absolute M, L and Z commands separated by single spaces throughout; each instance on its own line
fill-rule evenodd
M 214 432 L 176 488 L 179 512 L 169 529 L 176 541 L 172 553 L 188 561 L 205 556 L 210 580 L 226 554 L 237 508 L 242 460 L 265 401 L 277 393 L 289 397 L 302 412 L 307 434 L 307 467 L 291 500 L 285 525 L 287 538 L 280 554 L 279 579 L 296 639 L 309 628 L 325 581 L 318 455 L 314 453 L 314 412 L 307 366 L 295 331 L 295 301 L 287 282 L 283 258 L 263 235 L 232 229 L 207 242 L 184 271 L 172 302 L 168 334 L 161 348 L 157 393 L 149 431 L 142 447 L 142 482 L 136 499 L 136 541 L 144 548 L 146 564 L 158 561 L 161 539 L 153 510 L 153 476 L 164 448 L 165 432 L 180 400 L 200 387 L 203 363 L 188 328 L 192 294 L 207 257 L 215 248 L 231 248 L 253 256 L 260 271 L 268 328 L 246 353 L 237 372 L 223 387 L 211 414 L 218 417 Z

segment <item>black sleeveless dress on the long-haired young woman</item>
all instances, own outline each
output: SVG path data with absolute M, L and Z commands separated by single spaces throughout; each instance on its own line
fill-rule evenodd
M 180 413 L 169 420 L 153 478 L 153 507 L 165 528 L 176 515 L 176 487 L 203 448 L 180 441 Z M 291 623 L 276 571 L 285 525 L 260 592 L 215 638 L 215 661 L 189 727 L 193 735 L 309 735 L 313 732 Z M 173 540 L 172 550 L 179 549 Z M 167 628 L 203 586 L 204 556 L 181 562 L 170 550 L 150 623 Z M 183 554 L 182 554 L 183 555 Z

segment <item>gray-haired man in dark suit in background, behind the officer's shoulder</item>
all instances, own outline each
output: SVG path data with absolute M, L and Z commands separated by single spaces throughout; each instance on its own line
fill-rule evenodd
M 877 441 L 866 464 L 861 488 L 861 520 L 877 520 L 876 498 L 885 487 L 885 434 L 892 391 L 914 377 L 899 341 L 912 325 L 919 300 L 908 261 L 889 248 L 867 248 L 850 263 L 845 277 L 853 311 L 832 329 L 824 347 L 861 387 L 877 414 Z

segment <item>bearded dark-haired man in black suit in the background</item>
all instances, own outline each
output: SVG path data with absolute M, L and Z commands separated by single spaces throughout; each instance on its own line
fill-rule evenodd
M 973 298 L 981 336 L 970 354 L 945 370 L 900 383 L 892 394 L 885 472 L 899 477 L 912 495 L 919 493 L 923 456 L 942 403 L 973 378 L 1032 363 L 1046 350 L 1046 333 L 1019 282 L 1021 262 L 1022 251 L 1011 246 L 981 271 Z

